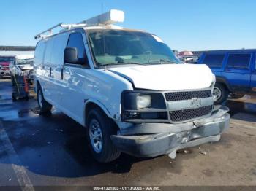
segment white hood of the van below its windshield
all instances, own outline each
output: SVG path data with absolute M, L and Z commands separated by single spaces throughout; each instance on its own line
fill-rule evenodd
M 108 69 L 128 79 L 135 88 L 192 90 L 210 87 L 215 79 L 205 64 L 162 64 Z

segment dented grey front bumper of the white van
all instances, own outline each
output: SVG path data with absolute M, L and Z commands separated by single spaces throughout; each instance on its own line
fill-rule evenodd
M 144 123 L 120 130 L 111 136 L 121 152 L 136 157 L 168 155 L 178 149 L 219 141 L 229 127 L 229 109 L 215 106 L 210 117 L 180 124 Z

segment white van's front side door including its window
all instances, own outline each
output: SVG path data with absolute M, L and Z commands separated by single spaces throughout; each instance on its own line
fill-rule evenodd
M 63 85 L 64 90 L 61 106 L 74 120 L 82 124 L 83 106 L 86 100 L 86 71 L 90 70 L 89 61 L 86 56 L 85 40 L 81 31 L 75 31 L 69 35 L 67 47 L 75 47 L 78 50 L 78 59 L 83 60 L 83 64 L 64 63 Z

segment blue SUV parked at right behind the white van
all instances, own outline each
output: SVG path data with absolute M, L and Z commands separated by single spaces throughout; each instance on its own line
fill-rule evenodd
M 244 94 L 256 95 L 256 51 L 204 52 L 197 63 L 206 64 L 216 76 L 214 98 L 222 104 Z

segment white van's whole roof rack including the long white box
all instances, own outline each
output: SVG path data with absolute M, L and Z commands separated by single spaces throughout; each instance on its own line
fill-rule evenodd
M 59 23 L 56 26 L 53 26 L 51 28 L 48 28 L 45 31 L 42 31 L 41 33 L 37 34 L 34 36 L 34 39 L 39 39 L 39 38 L 46 38 L 48 36 L 53 35 L 52 30 L 57 27 L 63 28 L 61 31 L 69 30 L 71 28 L 77 28 L 77 27 L 84 27 L 84 26 L 94 26 L 94 25 L 111 25 L 113 23 L 121 23 L 124 22 L 124 12 L 121 10 L 117 9 L 110 9 L 109 12 L 105 12 L 101 15 L 98 15 L 96 17 L 89 18 L 87 20 L 83 20 L 80 23 L 76 24 L 64 24 L 64 23 Z M 45 33 L 49 33 L 48 35 L 42 35 Z

